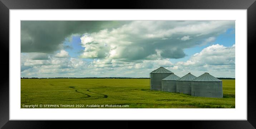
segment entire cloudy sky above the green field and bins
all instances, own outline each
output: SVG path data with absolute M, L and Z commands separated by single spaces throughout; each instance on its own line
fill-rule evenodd
M 21 77 L 235 78 L 235 21 L 21 21 Z

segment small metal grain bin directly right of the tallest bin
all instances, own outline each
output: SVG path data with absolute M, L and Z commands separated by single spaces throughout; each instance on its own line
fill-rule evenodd
M 180 79 L 180 77 L 175 74 L 171 74 L 162 79 L 162 91 L 176 92 L 176 80 L 178 79 Z

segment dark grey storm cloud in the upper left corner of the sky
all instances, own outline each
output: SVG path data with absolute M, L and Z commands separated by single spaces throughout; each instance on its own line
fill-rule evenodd
M 72 35 L 119 27 L 127 21 L 21 21 L 21 52 L 54 53 Z

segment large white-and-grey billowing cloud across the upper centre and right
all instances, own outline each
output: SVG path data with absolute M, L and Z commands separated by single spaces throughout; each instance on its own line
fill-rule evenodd
M 184 48 L 212 42 L 234 25 L 234 21 L 132 21 L 118 28 L 85 33 L 81 37 L 84 52 L 80 57 L 126 61 L 179 59 L 186 56 Z

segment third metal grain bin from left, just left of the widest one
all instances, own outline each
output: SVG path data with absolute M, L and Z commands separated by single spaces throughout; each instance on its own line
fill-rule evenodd
M 185 93 L 191 95 L 191 80 L 195 79 L 196 76 L 192 75 L 190 72 L 181 77 L 176 81 L 176 92 Z

